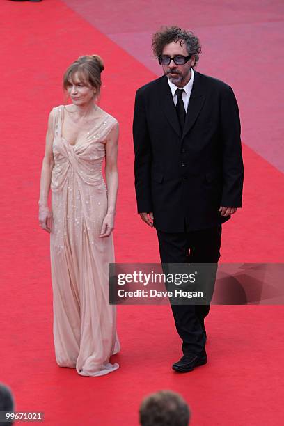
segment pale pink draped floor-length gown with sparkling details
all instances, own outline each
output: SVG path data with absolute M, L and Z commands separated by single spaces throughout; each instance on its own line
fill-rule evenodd
M 55 107 L 50 238 L 56 362 L 82 376 L 116 370 L 116 308 L 109 305 L 113 237 L 99 238 L 107 213 L 102 177 L 107 135 L 116 119 L 97 107 L 93 129 L 70 145 L 62 136 L 64 107 Z

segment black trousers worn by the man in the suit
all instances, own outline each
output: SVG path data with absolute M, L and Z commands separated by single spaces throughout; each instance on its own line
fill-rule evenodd
M 190 232 L 157 230 L 162 263 L 217 263 L 220 258 L 221 225 Z M 171 305 L 184 354 L 205 351 L 204 318 L 210 305 Z

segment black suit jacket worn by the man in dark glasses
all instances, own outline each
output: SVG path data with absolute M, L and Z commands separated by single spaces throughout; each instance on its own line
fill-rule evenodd
M 232 88 L 194 71 L 181 134 L 166 76 L 139 88 L 134 107 L 138 212 L 153 212 L 165 232 L 212 228 L 241 207 L 244 167 Z

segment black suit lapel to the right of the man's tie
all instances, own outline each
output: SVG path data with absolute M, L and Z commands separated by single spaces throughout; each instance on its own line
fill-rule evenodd
M 182 139 L 194 125 L 196 118 L 198 118 L 198 114 L 203 107 L 205 97 L 205 91 L 200 82 L 200 74 L 194 71 L 194 86 L 192 87 L 189 106 L 187 107 L 187 115 L 185 116 Z

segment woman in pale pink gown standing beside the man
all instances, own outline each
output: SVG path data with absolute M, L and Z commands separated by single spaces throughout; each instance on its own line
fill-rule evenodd
M 120 349 L 116 308 L 109 305 L 118 122 L 96 104 L 102 70 L 100 56 L 89 55 L 65 72 L 72 104 L 49 115 L 40 180 L 40 226 L 50 232 L 56 362 L 82 376 L 116 370 L 109 358 Z

